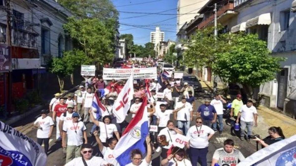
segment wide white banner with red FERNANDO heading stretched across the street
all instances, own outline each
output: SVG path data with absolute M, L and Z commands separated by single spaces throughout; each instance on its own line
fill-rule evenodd
M 103 79 L 128 79 L 133 71 L 134 79 L 157 79 L 156 67 L 133 69 L 103 69 Z

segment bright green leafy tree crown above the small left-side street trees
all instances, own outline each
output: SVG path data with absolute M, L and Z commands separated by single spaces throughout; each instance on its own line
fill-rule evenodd
M 64 24 L 71 38 L 76 39 L 84 53 L 98 64 L 111 62 L 114 57 L 114 34 L 110 22 L 104 24 L 98 19 L 84 18 L 81 20 L 70 17 Z

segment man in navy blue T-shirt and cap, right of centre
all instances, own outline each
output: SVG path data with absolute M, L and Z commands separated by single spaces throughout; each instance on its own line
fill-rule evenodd
M 212 128 L 212 123 L 216 122 L 217 112 L 214 106 L 210 105 L 210 100 L 206 99 L 203 105 L 200 105 L 197 110 L 197 117 L 203 118 L 203 124 Z

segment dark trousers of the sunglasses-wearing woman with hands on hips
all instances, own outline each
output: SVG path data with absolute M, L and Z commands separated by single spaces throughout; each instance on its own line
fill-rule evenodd
M 201 166 L 207 166 L 207 154 L 208 154 L 208 147 L 202 148 L 202 149 L 197 149 L 190 147 L 189 148 L 189 157 L 191 160 L 191 164 L 196 166 L 198 162 L 198 158 L 201 161 Z

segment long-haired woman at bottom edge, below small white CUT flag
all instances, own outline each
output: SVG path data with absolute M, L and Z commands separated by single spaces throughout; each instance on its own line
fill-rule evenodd
M 172 153 L 166 159 L 161 161 L 162 166 L 192 166 L 190 161 L 186 159 L 184 149 L 175 146 Z

